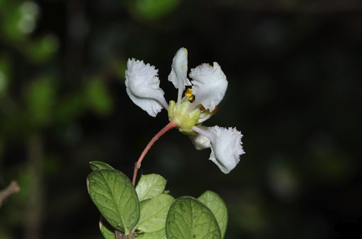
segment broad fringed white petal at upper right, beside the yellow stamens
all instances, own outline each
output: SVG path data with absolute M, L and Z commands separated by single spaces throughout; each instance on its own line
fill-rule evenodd
M 191 83 L 195 105 L 202 104 L 206 109 L 213 111 L 224 98 L 228 88 L 228 81 L 218 62 L 213 62 L 213 66 L 204 63 L 191 69 L 189 77 L 193 79 Z

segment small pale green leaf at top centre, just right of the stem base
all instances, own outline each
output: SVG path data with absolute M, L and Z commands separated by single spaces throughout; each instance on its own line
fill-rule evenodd
M 154 196 L 162 194 L 166 187 L 166 179 L 159 174 L 141 175 L 136 186 L 139 201 L 151 199 Z

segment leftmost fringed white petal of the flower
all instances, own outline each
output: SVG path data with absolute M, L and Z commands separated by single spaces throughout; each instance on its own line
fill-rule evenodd
M 167 107 L 164 91 L 159 87 L 158 70 L 143 60 L 128 60 L 126 70 L 126 91 L 134 104 L 156 117 L 162 108 Z

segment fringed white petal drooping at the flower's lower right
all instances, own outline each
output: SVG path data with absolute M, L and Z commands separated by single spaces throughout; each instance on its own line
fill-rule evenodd
M 221 172 L 228 174 L 238 165 L 240 155 L 245 154 L 241 138 L 243 135 L 236 128 L 213 126 L 208 128 L 211 140 L 211 161 L 215 162 Z

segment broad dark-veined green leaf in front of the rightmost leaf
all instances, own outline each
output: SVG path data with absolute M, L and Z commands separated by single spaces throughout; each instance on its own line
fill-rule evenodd
M 220 228 L 213 213 L 191 196 L 176 199 L 166 220 L 168 239 L 212 238 L 220 239 Z

